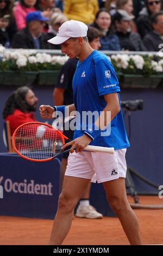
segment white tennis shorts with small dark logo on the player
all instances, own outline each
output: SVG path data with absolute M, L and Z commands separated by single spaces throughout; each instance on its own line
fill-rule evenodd
M 65 175 L 105 182 L 126 178 L 126 149 L 117 149 L 114 154 L 82 151 L 70 153 Z

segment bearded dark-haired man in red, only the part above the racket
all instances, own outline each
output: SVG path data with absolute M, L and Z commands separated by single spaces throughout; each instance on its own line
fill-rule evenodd
M 34 92 L 26 86 L 15 90 L 5 103 L 3 118 L 10 122 L 11 136 L 15 129 L 21 124 L 36 121 L 37 97 Z

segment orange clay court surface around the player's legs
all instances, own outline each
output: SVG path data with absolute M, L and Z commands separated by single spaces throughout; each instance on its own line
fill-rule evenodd
M 163 204 L 157 196 L 140 196 L 140 204 Z M 133 199 L 129 197 L 129 202 Z M 163 209 L 135 209 L 143 244 L 163 244 Z M 0 245 L 47 245 L 52 220 L 0 216 Z M 90 220 L 74 217 L 63 245 L 129 245 L 118 218 Z

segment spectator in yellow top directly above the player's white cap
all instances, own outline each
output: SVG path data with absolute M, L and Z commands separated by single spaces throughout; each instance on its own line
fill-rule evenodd
M 65 0 L 64 15 L 68 20 L 78 20 L 86 24 L 95 20 L 98 11 L 97 0 Z

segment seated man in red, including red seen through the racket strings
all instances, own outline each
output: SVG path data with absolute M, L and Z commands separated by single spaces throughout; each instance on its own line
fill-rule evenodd
M 8 120 L 10 122 L 11 136 L 18 126 L 24 123 L 37 121 L 34 117 L 37 101 L 38 99 L 34 92 L 26 86 L 18 88 L 9 96 L 3 110 L 3 118 L 5 121 Z M 30 129 L 26 130 L 25 128 L 24 131 L 22 129 L 21 133 L 23 140 L 19 141 L 19 149 L 23 151 L 26 150 L 29 137 L 36 135 L 35 141 L 32 142 L 33 145 L 30 149 L 36 150 L 36 154 L 39 154 L 38 149 L 42 151 L 43 148 L 45 149 L 46 153 L 48 149 L 51 150 L 51 148 L 49 148 L 49 143 L 51 143 L 53 138 L 58 136 L 56 135 L 55 130 L 49 130 L 48 127 L 43 127 L 42 125 L 38 124 L 35 125 L 34 130 L 32 129 L 32 131 L 30 131 Z M 54 147 L 53 144 L 52 146 Z

